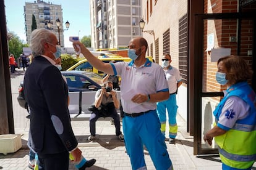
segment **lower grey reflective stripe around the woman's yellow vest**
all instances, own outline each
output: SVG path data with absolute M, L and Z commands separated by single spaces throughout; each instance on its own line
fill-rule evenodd
M 236 154 L 232 154 L 232 153 L 228 153 L 225 150 L 219 148 L 219 152 L 221 155 L 223 155 L 225 158 L 228 158 L 229 160 L 234 160 L 234 161 L 244 161 L 244 162 L 248 162 L 248 161 L 254 161 L 256 160 L 256 154 L 254 155 L 236 155 Z

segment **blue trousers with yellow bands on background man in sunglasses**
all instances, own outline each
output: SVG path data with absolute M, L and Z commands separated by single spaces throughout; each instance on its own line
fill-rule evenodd
M 165 136 L 165 127 L 166 127 L 166 108 L 168 111 L 169 119 L 169 137 L 176 138 L 177 136 L 177 103 L 176 103 L 176 94 L 170 94 L 168 100 L 163 102 L 156 103 L 157 113 L 161 122 L 161 132 Z

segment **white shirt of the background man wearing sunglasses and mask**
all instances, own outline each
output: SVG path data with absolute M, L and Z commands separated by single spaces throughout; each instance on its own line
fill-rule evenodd
M 168 70 L 164 70 L 168 86 L 169 94 L 172 94 L 177 91 L 177 82 L 181 81 L 181 72 L 175 67 L 169 67 Z

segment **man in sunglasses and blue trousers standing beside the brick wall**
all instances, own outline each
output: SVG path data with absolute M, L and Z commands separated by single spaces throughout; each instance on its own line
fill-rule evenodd
M 169 99 L 156 103 L 157 112 L 161 122 L 161 132 L 165 136 L 166 127 L 166 109 L 168 111 L 169 120 L 169 144 L 175 144 L 177 136 L 177 89 L 182 84 L 181 73 L 179 70 L 171 66 L 171 55 L 164 54 L 162 58 L 162 67 L 169 86 Z

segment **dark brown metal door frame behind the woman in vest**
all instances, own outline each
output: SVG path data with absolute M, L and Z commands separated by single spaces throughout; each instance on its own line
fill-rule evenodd
M 256 59 L 254 49 L 255 42 L 255 18 L 256 12 L 247 13 L 221 13 L 221 14 L 196 14 L 194 16 L 194 57 L 189 59 L 189 115 L 193 115 L 193 129 L 194 129 L 194 155 L 208 155 L 218 153 L 216 148 L 203 148 L 202 149 L 202 97 L 218 97 L 223 96 L 223 92 L 202 92 L 203 81 L 203 22 L 204 20 L 215 19 L 237 19 L 238 33 L 237 33 L 237 55 L 240 53 L 240 37 L 241 37 L 241 19 L 252 19 L 253 22 L 253 44 L 252 44 L 252 69 L 254 76 L 252 78 L 252 87 L 256 87 L 255 72 L 256 72 Z

